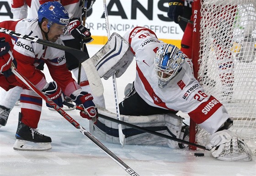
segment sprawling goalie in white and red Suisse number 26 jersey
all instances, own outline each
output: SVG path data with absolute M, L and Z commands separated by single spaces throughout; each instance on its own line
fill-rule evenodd
M 114 54 L 121 50 L 124 55 Z M 152 30 L 135 27 L 123 38 L 114 33 L 92 58 L 100 76 L 108 79 L 114 73 L 121 76 L 133 55 L 136 77 L 133 84 L 127 86 L 124 101 L 119 104 L 123 121 L 187 140 L 188 127 L 182 126 L 182 118 L 176 115 L 177 111 L 182 111 L 211 134 L 206 146 L 211 150 L 211 156 L 224 161 L 252 160 L 251 150 L 245 142 L 228 130 L 233 119 L 225 107 L 215 97 L 207 95 L 193 76 L 191 61 L 176 46 L 158 40 Z M 107 66 L 103 68 L 102 63 Z M 115 117 L 106 110 L 99 111 Z M 99 118 L 96 124 L 90 122 L 90 131 L 105 141 L 119 143 L 116 123 Z M 185 147 L 176 141 L 159 139 L 125 126 L 122 131 L 126 136 L 125 144 Z

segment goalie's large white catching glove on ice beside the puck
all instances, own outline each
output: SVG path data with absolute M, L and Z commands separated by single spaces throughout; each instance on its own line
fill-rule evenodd
M 251 150 L 245 141 L 229 130 L 213 133 L 210 144 L 211 156 L 223 161 L 252 161 Z

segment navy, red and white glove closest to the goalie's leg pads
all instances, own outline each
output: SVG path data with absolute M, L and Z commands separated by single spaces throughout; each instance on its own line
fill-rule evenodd
M 70 96 L 72 101 L 74 101 L 78 105 L 82 105 L 84 107 L 84 111 L 80 111 L 80 116 L 89 120 L 92 120 L 94 123 L 97 121 L 97 108 L 95 107 L 93 97 L 91 94 L 85 91 L 81 91 L 77 93 L 76 90 Z

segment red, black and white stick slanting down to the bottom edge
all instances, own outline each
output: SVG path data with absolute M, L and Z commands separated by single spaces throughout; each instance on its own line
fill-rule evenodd
M 91 135 L 84 127 L 75 121 L 71 116 L 69 116 L 64 110 L 62 110 L 56 103 L 54 103 L 48 96 L 46 96 L 42 91 L 37 89 L 25 76 L 21 75 L 18 70 L 11 66 L 11 71 L 16 75 L 24 84 L 26 84 L 31 90 L 35 91 L 38 96 L 52 106 L 61 116 L 63 116 L 69 123 L 71 123 L 77 130 L 79 130 L 84 136 L 91 140 L 96 146 L 98 146 L 102 151 L 104 151 L 113 161 L 115 161 L 119 166 L 121 166 L 125 171 L 127 171 L 131 176 L 139 176 L 135 171 L 133 171 L 129 166 L 127 166 L 122 160 L 120 160 L 115 154 L 112 153 L 106 146 L 104 146 L 100 141 L 98 141 L 94 136 Z

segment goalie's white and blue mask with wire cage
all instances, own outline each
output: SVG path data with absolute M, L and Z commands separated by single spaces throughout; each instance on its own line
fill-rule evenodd
M 186 55 L 175 45 L 164 44 L 156 52 L 155 70 L 160 81 L 169 81 L 181 70 Z

